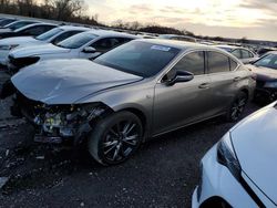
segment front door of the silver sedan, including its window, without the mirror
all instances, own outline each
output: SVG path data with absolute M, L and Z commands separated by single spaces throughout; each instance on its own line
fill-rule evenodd
M 211 79 L 205 74 L 205 53 L 192 52 L 182 58 L 155 86 L 153 134 L 165 133 L 211 116 Z M 188 82 L 166 85 L 176 71 L 194 74 Z

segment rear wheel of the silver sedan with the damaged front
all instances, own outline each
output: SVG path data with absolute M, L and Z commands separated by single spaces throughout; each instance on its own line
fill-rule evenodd
M 247 101 L 248 101 L 247 94 L 240 91 L 236 96 L 236 98 L 233 101 L 228 110 L 228 113 L 226 114 L 227 122 L 237 122 L 242 117 Z

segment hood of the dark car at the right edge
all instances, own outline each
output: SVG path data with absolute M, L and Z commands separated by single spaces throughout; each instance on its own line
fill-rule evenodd
M 277 70 L 255 65 L 247 65 L 247 67 L 257 74 L 259 81 L 277 81 Z

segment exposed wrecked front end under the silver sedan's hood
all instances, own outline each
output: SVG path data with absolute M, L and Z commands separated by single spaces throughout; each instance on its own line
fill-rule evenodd
M 39 112 L 33 123 L 40 126 L 40 134 L 54 137 L 81 137 L 92 129 L 94 119 L 109 112 L 109 107 L 99 104 L 37 106 Z

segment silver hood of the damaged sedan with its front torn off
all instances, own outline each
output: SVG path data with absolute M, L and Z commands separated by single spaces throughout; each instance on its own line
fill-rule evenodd
M 47 104 L 73 104 L 100 91 L 142 80 L 89 60 L 51 60 L 30 65 L 13 85 L 27 97 Z

